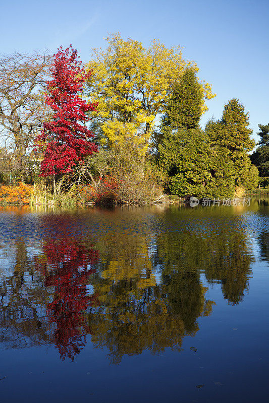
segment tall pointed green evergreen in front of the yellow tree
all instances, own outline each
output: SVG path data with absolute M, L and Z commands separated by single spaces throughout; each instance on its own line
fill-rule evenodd
M 186 69 L 168 101 L 158 146 L 159 168 L 168 179 L 168 190 L 175 194 L 200 194 L 203 187 L 202 98 L 195 72 Z

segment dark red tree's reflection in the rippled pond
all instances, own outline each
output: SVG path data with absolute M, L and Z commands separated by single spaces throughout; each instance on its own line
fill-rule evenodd
M 55 298 L 47 304 L 49 320 L 55 323 L 54 342 L 61 358 L 72 361 L 86 343 L 90 332 L 85 310 L 89 304 L 97 305 L 95 294 L 87 295 L 89 276 L 95 272 L 92 264 L 98 254 L 68 240 L 57 244 L 46 242 L 42 272 L 44 285 L 55 287 Z

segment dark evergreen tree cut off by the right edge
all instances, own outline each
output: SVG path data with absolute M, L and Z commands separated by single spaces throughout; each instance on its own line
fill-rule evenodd
M 256 165 L 259 171 L 259 176 L 269 176 L 269 123 L 259 124 L 260 131 L 257 133 L 260 136 L 259 147 L 250 156 L 253 164 Z

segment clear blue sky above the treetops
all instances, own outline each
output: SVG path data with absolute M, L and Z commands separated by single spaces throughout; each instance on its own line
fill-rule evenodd
M 116 31 L 144 46 L 155 38 L 181 45 L 217 93 L 202 124 L 239 98 L 256 133 L 269 122 L 268 21 L 269 0 L 1 0 L 0 52 L 55 52 L 71 43 L 86 62 Z

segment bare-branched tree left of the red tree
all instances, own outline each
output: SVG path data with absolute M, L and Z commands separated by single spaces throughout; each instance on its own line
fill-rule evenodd
M 0 56 L 0 133 L 9 170 L 26 173 L 26 155 L 50 111 L 42 89 L 51 56 L 46 52 Z

